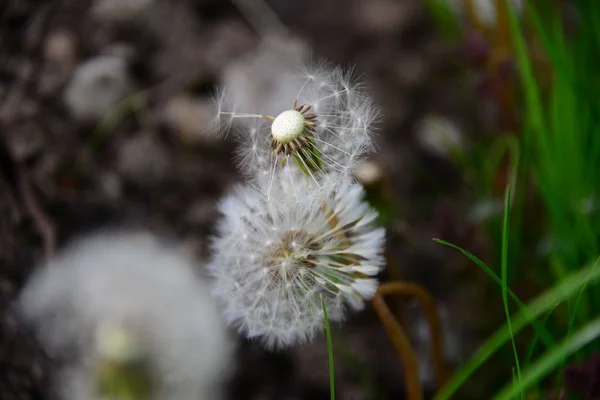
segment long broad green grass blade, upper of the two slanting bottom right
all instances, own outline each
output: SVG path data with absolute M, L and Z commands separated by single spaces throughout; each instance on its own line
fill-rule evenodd
M 483 346 L 471 357 L 469 361 L 442 387 L 434 397 L 435 400 L 451 399 L 454 393 L 483 365 L 499 348 L 508 340 L 511 334 L 515 335 L 524 327 L 531 324 L 541 314 L 548 312 L 557 304 L 571 298 L 578 293 L 582 287 L 600 278 L 600 268 L 587 267 L 565 277 L 561 282 L 545 291 L 527 307 L 515 314 L 511 319 L 512 333 L 507 324 L 488 339 Z M 522 383 L 520 383 L 522 384 Z

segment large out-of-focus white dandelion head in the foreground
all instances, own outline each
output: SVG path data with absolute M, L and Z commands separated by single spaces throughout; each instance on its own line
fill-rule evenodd
M 144 232 L 91 235 L 41 265 L 18 305 L 51 354 L 75 355 L 58 377 L 61 398 L 97 398 L 98 363 L 140 354 L 160 380 L 157 399 L 220 398 L 233 342 L 196 269 Z

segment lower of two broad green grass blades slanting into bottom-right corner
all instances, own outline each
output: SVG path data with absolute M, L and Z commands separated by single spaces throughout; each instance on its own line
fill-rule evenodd
M 496 394 L 494 400 L 514 399 L 519 393 L 539 382 L 557 366 L 562 364 L 571 354 L 598 338 L 598 336 L 600 336 L 600 318 L 596 318 L 573 336 L 561 342 L 556 348 L 545 353 L 535 364 L 525 370 L 519 382 L 516 382 L 514 385 L 505 386 Z

